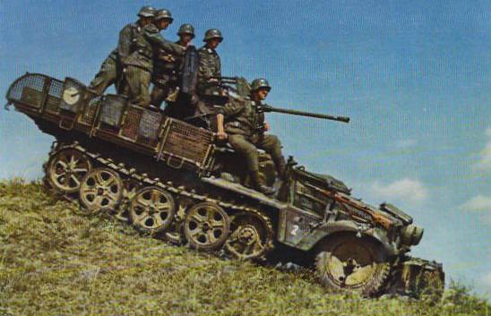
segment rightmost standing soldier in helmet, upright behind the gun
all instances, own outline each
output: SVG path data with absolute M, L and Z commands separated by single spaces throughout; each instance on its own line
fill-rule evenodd
M 220 77 L 221 65 L 220 56 L 217 54 L 223 37 L 220 30 L 211 29 L 204 33 L 203 41 L 206 44 L 198 50 L 199 67 L 198 67 L 198 94 L 214 94 L 218 92 L 217 84 L 219 81 L 212 77 Z

